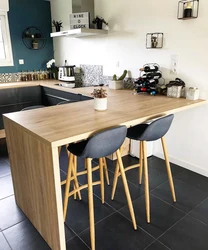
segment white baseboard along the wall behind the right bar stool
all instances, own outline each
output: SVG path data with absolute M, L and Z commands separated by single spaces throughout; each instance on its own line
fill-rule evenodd
M 162 153 L 154 153 L 154 156 L 156 156 L 158 158 L 161 158 L 161 159 L 164 159 L 164 155 Z M 200 168 L 199 166 L 193 165 L 193 164 L 191 164 L 189 162 L 177 159 L 177 158 L 172 157 L 172 156 L 168 156 L 168 157 L 169 157 L 170 162 L 172 162 L 172 163 L 174 163 L 174 164 L 176 164 L 176 165 L 178 165 L 180 167 L 191 170 L 191 171 L 193 171 L 193 172 L 195 172 L 197 174 L 201 174 L 203 176 L 208 177 L 208 170 Z

